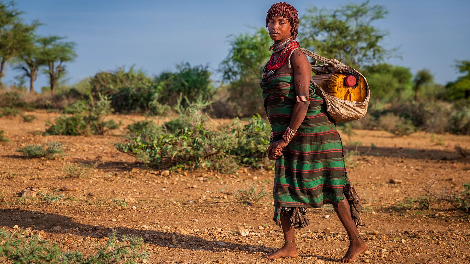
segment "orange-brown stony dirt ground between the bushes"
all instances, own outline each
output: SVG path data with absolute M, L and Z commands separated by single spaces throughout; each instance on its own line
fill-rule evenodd
M 272 220 L 271 194 L 252 205 L 237 198 L 239 189 L 250 186 L 270 192 L 272 170 L 166 175 L 146 170 L 133 156 L 114 148 L 114 143 L 124 141 L 123 131 L 92 137 L 43 136 L 37 131 L 43 132 L 45 121 L 58 114 L 32 114 L 38 117 L 32 123 L 24 123 L 20 116 L 0 118 L 0 130 L 11 140 L 0 143 L 0 228 L 28 228 L 64 251 L 79 250 L 85 255 L 94 254 L 115 229 L 118 235 L 145 239 L 151 254 L 147 263 L 270 263 L 262 256 L 282 247 L 281 229 Z M 112 117 L 124 125 L 144 119 Z M 348 162 L 352 165 L 348 175 L 365 208 L 366 226 L 359 230 L 369 250 L 355 263 L 470 263 L 468 213 L 397 207 L 406 197 L 423 195 L 432 179 L 439 180 L 436 185 L 462 192 L 462 183 L 470 182 L 470 158 L 462 158 L 454 145 L 470 148 L 469 136 L 416 132 L 396 137 L 355 130 L 342 137 L 346 149 L 360 153 Z M 25 145 L 53 140 L 65 144 L 65 155 L 29 159 L 16 152 Z M 64 175 L 66 165 L 97 161 L 101 164 L 87 177 Z M 390 179 L 402 182 L 392 184 Z M 72 190 L 61 191 L 63 186 Z M 18 197 L 26 187 L 64 197 L 50 204 Z M 301 257 L 275 263 L 328 264 L 344 255 L 347 236 L 332 207 L 311 209 L 307 216 L 311 225 L 296 234 Z M 248 235 L 240 234 L 246 231 Z

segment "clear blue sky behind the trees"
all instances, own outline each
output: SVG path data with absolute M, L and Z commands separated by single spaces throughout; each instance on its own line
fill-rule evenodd
M 216 70 L 227 56 L 227 36 L 265 25 L 267 0 L 17 0 L 24 20 L 39 19 L 40 35 L 67 36 L 77 43 L 78 58 L 67 65 L 68 83 L 99 70 L 135 65 L 149 75 L 175 70 L 180 62 Z M 336 8 L 342 1 L 289 1 L 302 16 L 306 8 Z M 440 84 L 454 80 L 455 60 L 470 60 L 470 1 L 372 0 L 389 14 L 376 26 L 389 31 L 384 45 L 400 47 L 402 59 L 389 63 L 417 70 L 428 68 Z M 20 72 L 10 66 L 3 79 L 12 84 Z M 40 75 L 36 90 L 47 85 Z

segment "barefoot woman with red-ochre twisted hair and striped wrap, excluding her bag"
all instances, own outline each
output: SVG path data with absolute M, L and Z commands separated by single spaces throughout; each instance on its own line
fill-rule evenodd
M 306 208 L 330 203 L 350 240 L 339 262 L 352 262 L 367 250 L 367 245 L 344 197 L 343 189 L 350 181 L 336 124 L 310 86 L 311 65 L 307 57 L 296 50 L 297 10 L 287 3 L 274 4 L 267 12 L 266 27 L 274 45 L 263 70 L 261 88 L 272 127 L 267 154 L 276 161 L 274 221 L 282 226 L 285 242 L 282 248 L 265 257 L 298 257 L 294 228 L 310 224 L 305 217 Z

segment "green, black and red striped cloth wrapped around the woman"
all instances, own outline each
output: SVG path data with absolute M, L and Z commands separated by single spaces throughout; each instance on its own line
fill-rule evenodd
M 261 81 L 274 140 L 282 138 L 290 123 L 296 102 L 293 79 L 291 74 L 278 73 Z M 304 121 L 275 163 L 274 221 L 279 226 L 281 207 L 336 205 L 343 199 L 343 187 L 350 183 L 336 124 L 312 86 L 309 97 L 310 106 Z

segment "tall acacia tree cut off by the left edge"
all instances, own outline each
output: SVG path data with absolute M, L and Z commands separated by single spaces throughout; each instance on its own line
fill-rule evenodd
M 0 85 L 7 64 L 27 49 L 33 32 L 39 26 L 38 21 L 31 25 L 22 23 L 22 14 L 14 2 L 0 2 Z

